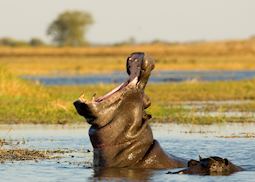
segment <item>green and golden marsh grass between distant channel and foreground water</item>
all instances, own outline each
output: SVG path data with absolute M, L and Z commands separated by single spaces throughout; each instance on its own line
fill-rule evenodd
M 0 67 L 0 123 L 63 124 L 83 122 L 73 101 L 82 93 L 90 100 L 94 93 L 103 95 L 114 84 L 44 87 L 21 80 Z M 146 93 L 152 101 L 148 112 L 152 122 L 211 124 L 223 122 L 254 122 L 252 117 L 226 117 L 224 114 L 197 116 L 197 112 L 255 112 L 255 80 L 232 82 L 183 82 L 148 84 Z M 240 100 L 237 104 L 204 104 L 196 107 L 187 101 Z M 249 102 L 242 102 L 249 100 Z

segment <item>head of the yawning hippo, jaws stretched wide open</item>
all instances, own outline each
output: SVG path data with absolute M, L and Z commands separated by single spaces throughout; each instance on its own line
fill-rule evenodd
M 92 125 L 107 124 L 111 120 L 111 111 L 119 107 L 120 101 L 124 101 L 124 95 L 128 96 L 128 93 L 135 91 L 143 94 L 153 69 L 154 60 L 150 56 L 143 52 L 132 53 L 126 61 L 126 70 L 129 75 L 127 81 L 101 97 L 93 97 L 91 101 L 86 101 L 82 95 L 74 102 L 77 112 Z M 142 97 L 143 108 L 149 107 L 149 98 L 144 94 Z

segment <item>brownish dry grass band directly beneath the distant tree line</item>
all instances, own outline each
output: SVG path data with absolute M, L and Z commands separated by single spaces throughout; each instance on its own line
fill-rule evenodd
M 255 54 L 255 40 L 217 41 L 186 44 L 139 44 L 95 47 L 1 47 L 0 56 L 117 56 L 143 51 L 156 55 Z

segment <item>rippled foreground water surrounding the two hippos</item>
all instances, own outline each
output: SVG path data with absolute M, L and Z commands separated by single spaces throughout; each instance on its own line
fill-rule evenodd
M 218 155 L 245 168 L 230 176 L 166 174 L 169 170 L 94 169 L 88 126 L 14 125 L 0 126 L 0 138 L 25 140 L 22 148 L 63 149 L 71 153 L 61 159 L 0 164 L 0 181 L 255 181 L 255 124 L 176 125 L 154 124 L 153 132 L 169 153 L 187 159 Z M 232 135 L 237 138 L 227 138 Z M 174 170 L 171 170 L 174 171 Z

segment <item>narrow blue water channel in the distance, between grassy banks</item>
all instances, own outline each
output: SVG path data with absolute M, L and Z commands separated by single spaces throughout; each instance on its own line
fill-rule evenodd
M 96 83 L 120 83 L 127 79 L 124 72 L 111 74 L 90 74 L 78 76 L 23 76 L 45 85 L 74 85 Z M 255 78 L 255 71 L 156 71 L 152 72 L 150 82 L 181 82 L 189 80 L 227 81 Z

